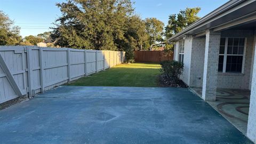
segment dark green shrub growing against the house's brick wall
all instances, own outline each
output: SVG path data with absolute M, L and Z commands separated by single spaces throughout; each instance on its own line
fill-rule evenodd
M 183 71 L 183 63 L 172 60 L 172 61 L 161 61 L 161 72 L 172 81 L 174 84 L 178 84 L 180 81 L 180 75 Z

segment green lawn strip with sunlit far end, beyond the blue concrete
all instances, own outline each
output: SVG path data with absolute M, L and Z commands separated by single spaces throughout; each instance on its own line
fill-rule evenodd
M 158 86 L 159 68 L 156 63 L 121 64 L 105 71 L 82 77 L 68 85 L 79 86 Z

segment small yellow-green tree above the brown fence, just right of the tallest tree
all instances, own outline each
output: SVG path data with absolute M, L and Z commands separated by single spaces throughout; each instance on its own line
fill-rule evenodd
M 156 18 L 147 18 L 145 20 L 146 31 L 149 37 L 149 45 L 163 41 L 164 23 Z

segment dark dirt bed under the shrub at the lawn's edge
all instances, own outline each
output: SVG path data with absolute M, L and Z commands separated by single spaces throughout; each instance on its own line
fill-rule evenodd
M 188 87 L 183 81 L 179 81 L 178 84 L 174 84 L 170 81 L 170 79 L 168 79 L 167 77 L 165 77 L 164 75 L 159 75 L 159 86 L 160 87 Z

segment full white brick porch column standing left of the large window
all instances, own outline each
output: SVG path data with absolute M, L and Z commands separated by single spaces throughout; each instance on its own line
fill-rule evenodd
M 219 51 L 220 33 L 206 30 L 202 97 L 207 101 L 216 100 Z

